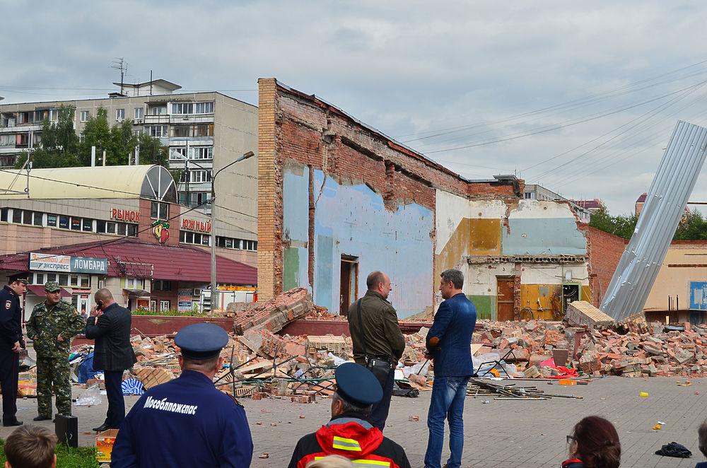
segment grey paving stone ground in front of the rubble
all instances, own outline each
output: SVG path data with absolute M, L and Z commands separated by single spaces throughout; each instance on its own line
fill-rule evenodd
M 707 380 L 692 380 L 679 387 L 676 378 L 604 378 L 590 385 L 563 387 L 544 382 L 518 382 L 537 385 L 546 392 L 576 394 L 583 399 L 554 398 L 545 401 L 494 401 L 490 397 L 468 397 L 464 407 L 464 467 L 556 468 L 566 459 L 565 436 L 583 416 L 598 414 L 612 421 L 621 438 L 621 467 L 694 467 L 705 458 L 697 447 L 697 428 L 707 419 Z M 639 392 L 650 397 L 638 397 Z M 74 387 L 74 397 L 83 389 Z M 696 395 L 695 392 L 699 392 Z M 394 397 L 385 435 L 402 445 L 412 467 L 423 467 L 427 446 L 426 414 L 431 392 L 419 398 Z M 136 397 L 126 397 L 128 408 Z M 489 404 L 482 403 L 489 399 Z M 255 441 L 252 467 L 286 467 L 300 436 L 316 431 L 329 419 L 329 399 L 312 404 L 291 403 L 287 399 L 252 401 L 243 399 Z M 90 428 L 105 418 L 106 400 L 98 406 L 74 407 L 78 416 L 81 445 L 93 445 Z M 18 417 L 32 423 L 37 414 L 35 399 L 18 400 Z M 420 416 L 419 422 L 408 421 Z M 304 419 L 300 419 L 304 416 Z M 652 431 L 656 422 L 666 423 Z M 53 428 L 51 421 L 39 423 Z M 13 428 L 0 428 L 6 438 Z M 691 459 L 654 455 L 661 445 L 682 443 L 693 452 Z M 269 458 L 259 459 L 262 453 Z M 448 457 L 448 452 L 443 454 Z M 445 460 L 446 458 L 444 458 Z

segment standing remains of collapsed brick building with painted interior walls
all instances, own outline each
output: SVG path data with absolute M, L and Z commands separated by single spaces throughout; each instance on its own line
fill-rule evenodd
M 261 300 L 305 287 L 346 313 L 381 270 L 405 318 L 431 312 L 438 274 L 459 268 L 480 318 L 553 318 L 572 300 L 598 305 L 624 249 L 592 265 L 604 233 L 570 204 L 523 199 L 513 175 L 467 180 L 274 78 L 259 80 L 258 119 Z

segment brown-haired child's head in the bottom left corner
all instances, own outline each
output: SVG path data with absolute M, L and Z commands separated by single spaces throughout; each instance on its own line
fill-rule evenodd
M 5 468 L 54 468 L 57 436 L 40 426 L 20 426 L 5 440 Z

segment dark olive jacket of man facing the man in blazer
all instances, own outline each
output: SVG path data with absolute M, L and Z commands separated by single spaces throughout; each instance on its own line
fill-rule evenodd
M 405 338 L 397 322 L 395 308 L 376 291 L 361 298 L 361 322 L 358 327 L 358 300 L 349 307 L 349 331 L 354 342 L 354 360 L 362 364 L 363 339 L 370 356 L 387 356 L 397 362 L 405 351 Z

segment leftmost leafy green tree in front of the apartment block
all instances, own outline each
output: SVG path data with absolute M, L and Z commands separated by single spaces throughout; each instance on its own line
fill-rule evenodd
M 45 119 L 42 123 L 42 139 L 32 152 L 33 168 L 71 168 L 81 165 L 78 159 L 78 136 L 74 131 L 75 107 L 59 107 L 57 122 Z M 16 167 L 21 168 L 26 158 L 18 158 Z

